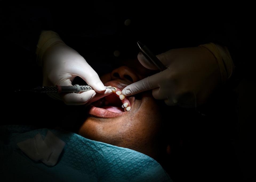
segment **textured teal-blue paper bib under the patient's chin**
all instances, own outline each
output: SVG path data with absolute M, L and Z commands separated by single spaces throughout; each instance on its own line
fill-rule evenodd
M 31 160 L 18 142 L 44 137 L 48 129 L 24 125 L 0 127 L 0 177 L 8 181 L 171 181 L 153 158 L 137 151 L 52 130 L 66 145 L 55 166 Z M 3 180 L 3 181 L 5 181 Z M 2 181 L 2 180 L 1 180 Z

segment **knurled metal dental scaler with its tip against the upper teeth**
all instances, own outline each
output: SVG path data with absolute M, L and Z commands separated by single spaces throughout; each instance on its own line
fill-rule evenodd
M 109 87 L 106 87 L 106 89 Z M 113 87 L 110 87 L 110 89 Z M 113 88 L 115 89 L 115 88 Z M 90 85 L 70 85 L 70 86 L 38 86 L 32 90 L 18 90 L 18 91 L 30 91 L 36 93 L 81 93 L 93 90 Z

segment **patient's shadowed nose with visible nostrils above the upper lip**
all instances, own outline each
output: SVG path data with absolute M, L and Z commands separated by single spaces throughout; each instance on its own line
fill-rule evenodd
M 129 83 L 139 81 L 139 76 L 129 67 L 121 66 L 111 72 L 111 80 L 125 80 Z

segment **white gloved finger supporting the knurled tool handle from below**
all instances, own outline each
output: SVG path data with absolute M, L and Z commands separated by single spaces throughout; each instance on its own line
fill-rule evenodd
M 62 100 L 67 105 L 83 105 L 90 101 L 96 95 L 95 90 L 89 90 L 82 93 L 62 94 Z

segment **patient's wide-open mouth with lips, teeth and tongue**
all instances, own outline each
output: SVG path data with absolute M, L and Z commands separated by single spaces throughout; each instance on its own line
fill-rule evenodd
M 126 85 L 118 81 L 109 81 L 105 85 L 112 87 L 112 93 L 91 103 L 89 114 L 101 118 L 113 118 L 130 111 L 131 103 L 134 102 L 135 97 L 125 97 L 122 95 L 121 91 Z

